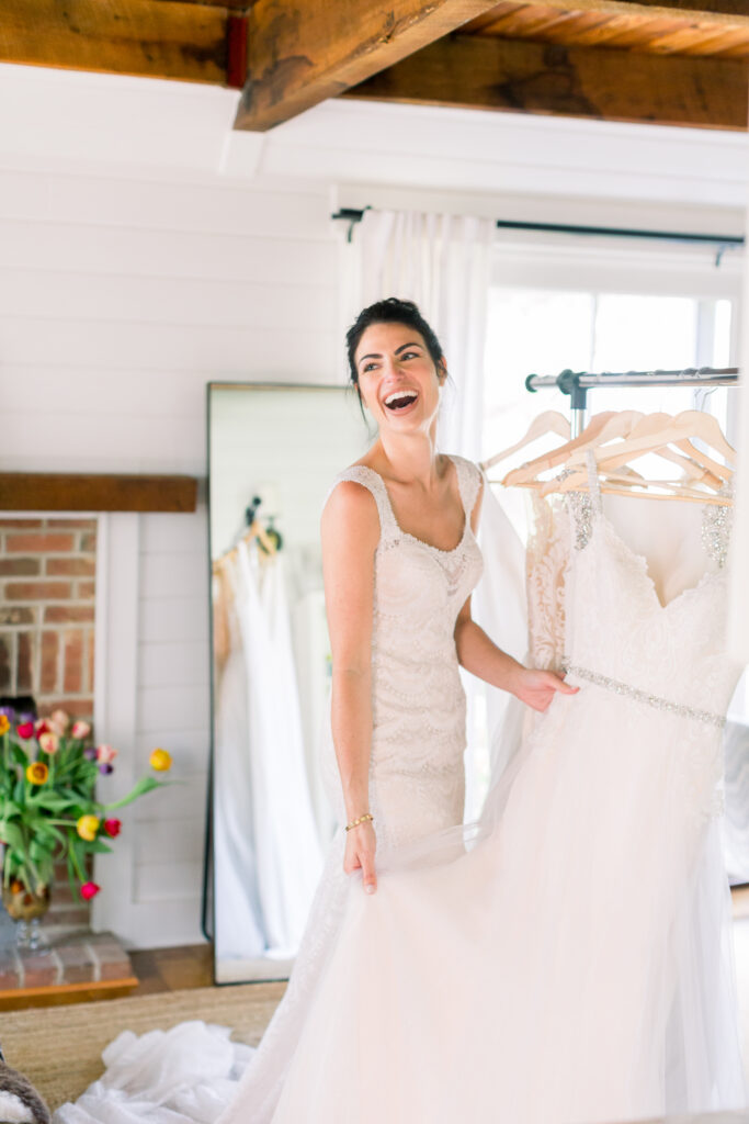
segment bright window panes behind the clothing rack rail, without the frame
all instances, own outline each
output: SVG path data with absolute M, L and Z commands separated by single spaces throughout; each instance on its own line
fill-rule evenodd
M 526 378 L 573 371 L 648 371 L 728 366 L 730 299 L 648 293 L 575 292 L 495 287 L 490 296 L 483 455 L 517 442 L 544 409 L 566 414 L 569 399 L 554 390 L 529 393 Z M 706 391 L 723 428 L 725 388 Z M 677 414 L 705 391 L 612 388 L 588 393 L 588 415 L 638 409 Z M 508 465 L 510 468 L 511 465 Z

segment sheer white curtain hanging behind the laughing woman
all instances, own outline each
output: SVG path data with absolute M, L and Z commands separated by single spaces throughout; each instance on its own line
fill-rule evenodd
M 472 461 L 482 457 L 486 321 L 493 219 L 469 215 L 365 210 L 356 235 L 359 245 L 362 307 L 385 297 L 414 300 L 437 333 L 450 374 L 442 395 L 438 446 Z M 479 544 L 484 578 L 474 598 L 474 616 L 504 651 L 523 659 L 527 650 L 524 551 L 504 510 L 485 489 Z M 464 676 L 468 701 L 466 815 L 481 804 L 520 740 L 509 696 Z M 484 717 L 482 717 L 484 716 Z M 487 738 L 491 765 L 479 743 Z

